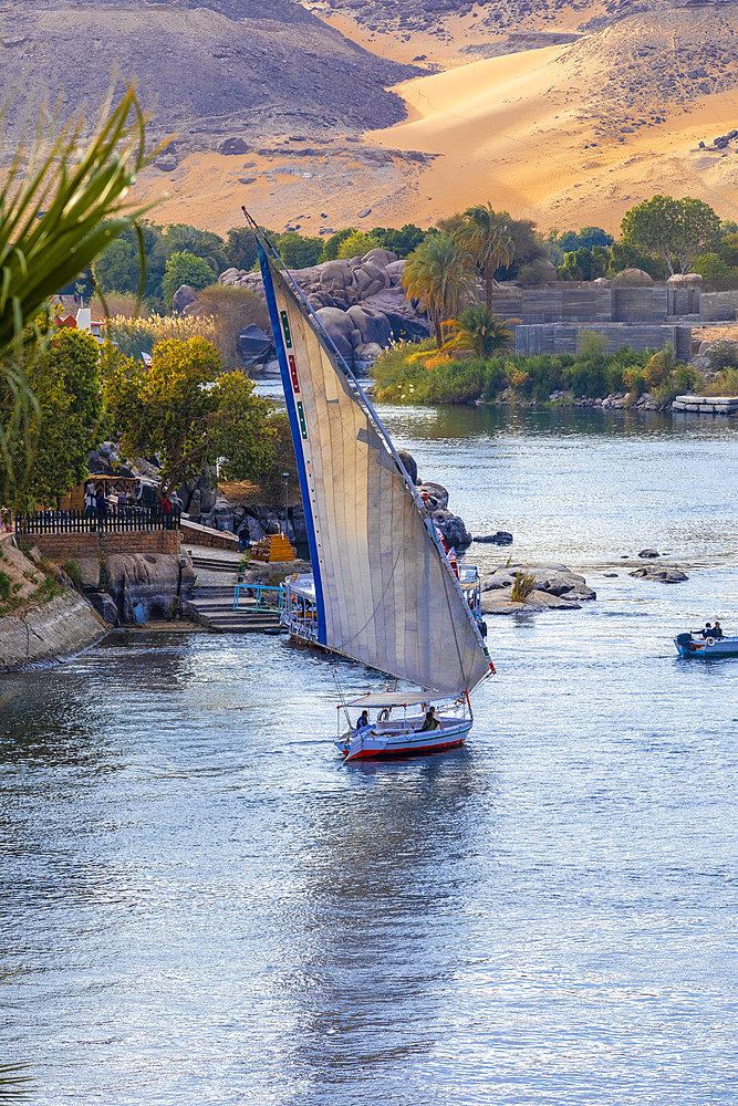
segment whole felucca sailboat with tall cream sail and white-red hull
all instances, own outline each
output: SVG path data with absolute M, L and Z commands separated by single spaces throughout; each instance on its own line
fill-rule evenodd
M 495 671 L 469 601 L 475 588 L 449 561 L 351 367 L 245 215 L 257 236 L 312 565 L 288 582 L 283 619 L 303 640 L 395 678 L 394 690 L 344 705 L 361 710 L 339 732 L 346 760 L 460 745 L 472 722 L 469 692 Z M 397 690 L 399 680 L 416 690 Z

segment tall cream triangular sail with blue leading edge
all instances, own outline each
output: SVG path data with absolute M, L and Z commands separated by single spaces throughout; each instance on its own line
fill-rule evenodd
M 366 397 L 261 247 L 260 263 L 305 508 L 318 640 L 424 688 L 471 689 L 491 664 L 428 511 Z

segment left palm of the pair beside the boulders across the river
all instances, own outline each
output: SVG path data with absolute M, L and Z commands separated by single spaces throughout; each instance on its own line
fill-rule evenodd
M 472 272 L 472 259 L 453 234 L 428 234 L 407 259 L 403 288 L 430 316 L 439 349 L 443 320 L 458 315 L 474 295 Z

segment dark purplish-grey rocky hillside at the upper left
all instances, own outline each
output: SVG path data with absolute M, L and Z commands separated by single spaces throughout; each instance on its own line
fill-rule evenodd
M 40 105 L 63 118 L 133 81 L 150 135 L 185 149 L 233 134 L 346 134 L 404 115 L 386 86 L 413 74 L 291 0 L 0 0 L 0 100 L 15 137 Z

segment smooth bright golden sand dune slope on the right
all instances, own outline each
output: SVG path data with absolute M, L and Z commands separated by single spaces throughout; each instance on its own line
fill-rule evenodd
M 413 210 L 434 221 L 489 199 L 541 226 L 615 229 L 637 200 L 664 190 L 695 195 L 738 216 L 738 154 L 705 153 L 700 139 L 738 119 L 738 90 L 667 109 L 633 134 L 603 128 L 601 105 L 572 87 L 565 48 L 530 51 L 398 86 L 407 123 L 375 140 L 444 154 L 424 170 Z M 621 116 L 622 117 L 622 116 Z M 596 143 L 596 145 L 592 145 Z M 426 197 L 430 197 L 429 199 Z

